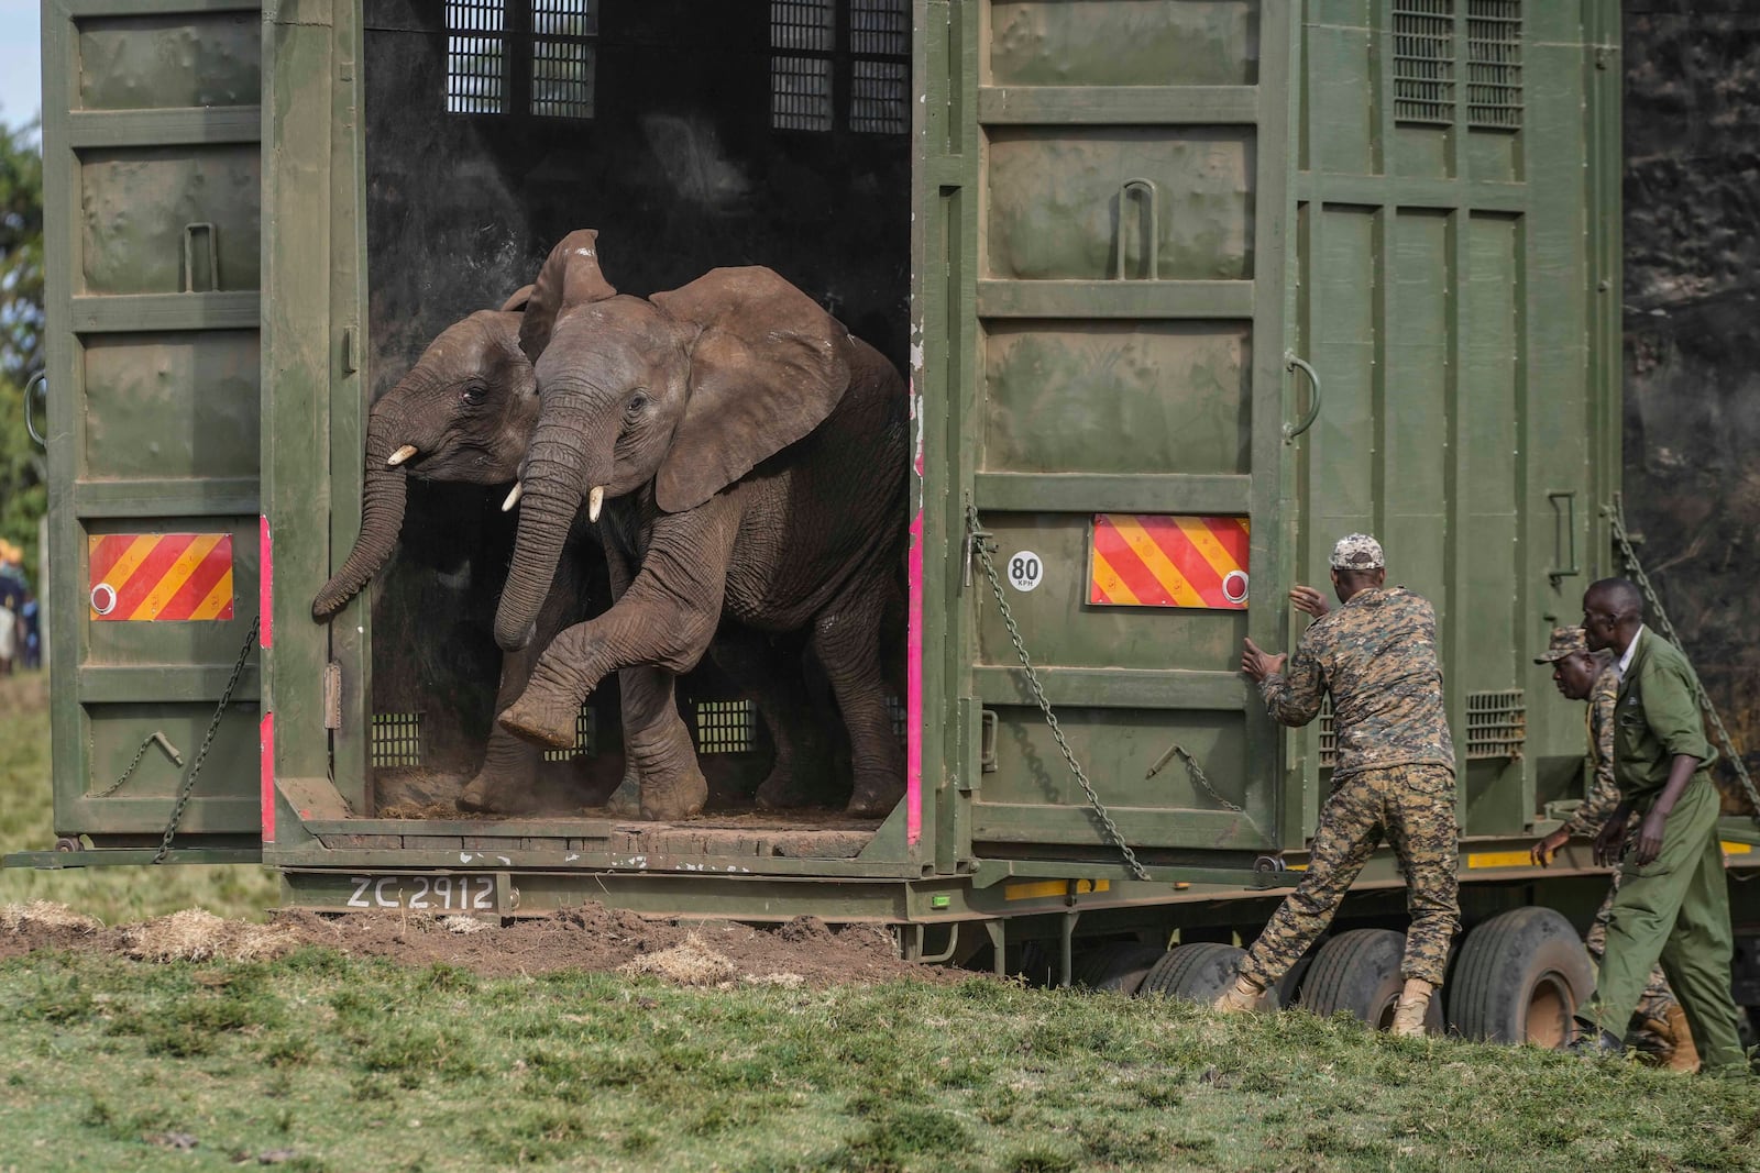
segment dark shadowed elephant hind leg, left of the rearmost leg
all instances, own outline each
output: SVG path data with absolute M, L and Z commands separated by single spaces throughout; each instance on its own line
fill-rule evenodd
M 780 638 L 723 623 L 709 645 L 709 656 L 752 700 L 776 746 L 755 795 L 764 811 L 811 804 L 831 776 L 831 742 L 813 719 L 813 698 L 801 675 L 804 647 L 792 635 Z

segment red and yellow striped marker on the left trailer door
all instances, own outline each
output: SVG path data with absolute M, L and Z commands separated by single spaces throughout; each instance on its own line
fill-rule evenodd
M 232 617 L 229 533 L 107 533 L 88 552 L 93 621 Z

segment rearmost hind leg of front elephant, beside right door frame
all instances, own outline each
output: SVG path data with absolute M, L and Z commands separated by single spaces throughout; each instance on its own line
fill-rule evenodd
M 905 797 L 905 749 L 892 735 L 880 668 L 884 607 L 882 591 L 857 587 L 813 619 L 813 651 L 825 665 L 850 732 L 855 786 L 847 811 L 859 818 L 880 818 Z

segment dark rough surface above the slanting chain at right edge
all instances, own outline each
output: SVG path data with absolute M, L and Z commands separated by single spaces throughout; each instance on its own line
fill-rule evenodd
M 1624 503 L 1760 769 L 1760 5 L 1624 5 Z

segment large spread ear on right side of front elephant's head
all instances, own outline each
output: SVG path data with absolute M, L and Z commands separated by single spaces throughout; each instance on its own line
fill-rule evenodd
M 818 427 L 850 385 L 848 331 L 771 269 L 715 269 L 653 301 L 688 336 L 690 403 L 655 503 L 695 508 Z

